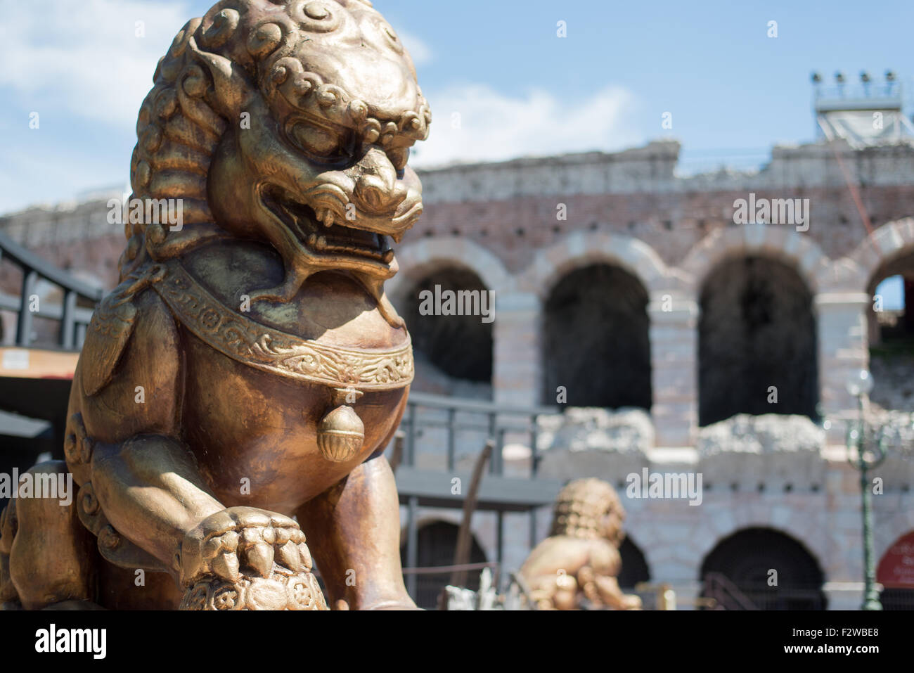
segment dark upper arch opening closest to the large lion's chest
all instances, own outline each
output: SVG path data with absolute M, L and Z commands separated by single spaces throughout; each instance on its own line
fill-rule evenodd
M 491 400 L 494 297 L 479 276 L 442 268 L 414 283 L 405 297 L 402 315 L 416 360 L 413 390 Z

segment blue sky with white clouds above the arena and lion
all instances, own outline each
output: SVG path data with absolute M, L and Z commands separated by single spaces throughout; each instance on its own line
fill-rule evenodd
M 0 27 L 0 212 L 126 183 L 155 62 L 208 0 L 10 3 Z M 418 166 L 683 143 L 685 171 L 813 138 L 813 70 L 914 92 L 914 3 L 376 0 L 436 123 Z M 778 37 L 767 37 L 768 22 Z M 143 37 L 135 35 L 143 21 Z M 557 37 L 565 21 L 568 37 Z M 38 112 L 39 128 L 29 129 Z M 673 128 L 661 127 L 664 112 Z M 455 114 L 460 128 L 453 128 Z

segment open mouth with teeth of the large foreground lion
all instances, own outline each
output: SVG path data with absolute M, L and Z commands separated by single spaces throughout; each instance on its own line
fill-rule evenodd
M 330 208 L 315 211 L 285 191 L 264 193 L 263 205 L 314 254 L 328 257 L 345 255 L 384 264 L 393 261 L 394 251 L 387 236 L 337 224 L 340 220 L 347 220 Z

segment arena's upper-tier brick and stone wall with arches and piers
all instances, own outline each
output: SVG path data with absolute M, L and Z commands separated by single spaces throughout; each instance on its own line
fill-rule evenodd
M 536 404 L 549 357 L 541 339 L 548 292 L 582 265 L 618 263 L 649 295 L 657 442 L 683 446 L 697 427 L 701 284 L 729 257 L 771 254 L 792 264 L 814 294 L 824 409 L 850 408 L 844 382 L 868 362 L 872 276 L 914 250 L 914 220 L 906 219 L 914 215 L 914 145 L 775 147 L 759 172 L 687 177 L 676 175 L 678 153 L 675 142 L 657 142 L 612 155 L 423 172 L 426 212 L 399 246 L 401 272 L 388 283 L 393 301 L 403 309 L 421 275 L 448 265 L 476 273 L 497 294 L 494 400 Z M 871 239 L 845 173 L 877 231 Z M 734 201 L 750 193 L 808 198 L 809 230 L 734 224 Z M 107 221 L 107 199 L 120 196 L 32 208 L 0 218 L 0 230 L 58 267 L 111 288 L 123 235 Z M 565 219 L 557 217 L 562 213 Z M 0 271 L 0 290 L 18 292 L 16 275 Z

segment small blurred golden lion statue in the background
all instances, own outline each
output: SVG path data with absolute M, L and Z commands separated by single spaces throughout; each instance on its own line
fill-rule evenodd
M 530 552 L 520 575 L 540 610 L 638 610 L 641 599 L 622 593 L 619 545 L 625 511 L 612 486 L 578 479 L 558 494 L 549 537 Z

